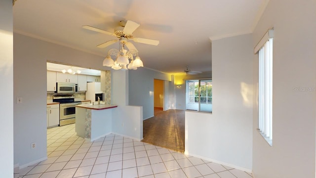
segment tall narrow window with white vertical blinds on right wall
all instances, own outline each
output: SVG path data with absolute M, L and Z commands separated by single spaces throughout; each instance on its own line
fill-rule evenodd
M 268 31 L 269 33 L 270 31 Z M 273 33 L 270 32 L 270 33 Z M 266 36 L 266 35 L 265 35 Z M 273 37 L 259 49 L 259 131 L 272 146 Z M 263 38 L 264 39 L 264 38 Z M 260 43 L 259 43 L 260 44 Z M 256 51 L 255 51 L 256 52 Z

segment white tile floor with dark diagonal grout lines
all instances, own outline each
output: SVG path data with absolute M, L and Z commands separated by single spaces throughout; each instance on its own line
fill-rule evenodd
M 110 134 L 93 142 L 75 124 L 47 129 L 48 159 L 19 178 L 252 178 L 250 173 Z

